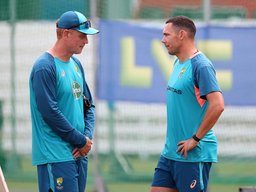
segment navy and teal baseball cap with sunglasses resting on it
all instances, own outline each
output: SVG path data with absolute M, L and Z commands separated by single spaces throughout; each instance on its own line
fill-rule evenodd
M 77 11 L 68 11 L 66 13 L 63 13 L 61 17 L 59 18 L 59 22 L 57 27 L 63 28 L 63 29 L 72 29 L 72 30 L 78 30 L 82 33 L 93 35 L 95 33 L 98 33 L 100 31 L 94 29 L 94 28 L 86 28 L 85 24 L 82 24 L 80 26 L 76 26 L 82 22 L 87 21 L 87 18 Z M 76 26 L 76 27 L 72 27 Z M 72 27 L 72 28 L 71 28 Z

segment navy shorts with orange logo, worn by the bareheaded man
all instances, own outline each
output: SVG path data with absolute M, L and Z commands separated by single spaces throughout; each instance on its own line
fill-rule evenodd
M 206 192 L 211 162 L 181 162 L 161 155 L 151 186 L 176 188 L 179 192 Z

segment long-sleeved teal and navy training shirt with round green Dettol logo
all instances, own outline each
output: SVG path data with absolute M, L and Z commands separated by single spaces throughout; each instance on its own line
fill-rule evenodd
M 83 94 L 92 107 L 83 116 Z M 74 160 L 72 150 L 92 139 L 95 106 L 81 63 L 63 62 L 45 52 L 30 75 L 32 165 Z M 80 158 L 81 159 L 81 158 Z

